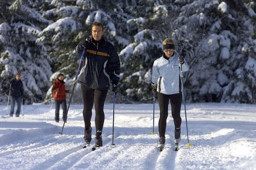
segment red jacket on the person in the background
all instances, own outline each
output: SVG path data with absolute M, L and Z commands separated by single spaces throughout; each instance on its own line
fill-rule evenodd
M 57 78 L 52 85 L 53 98 L 55 100 L 64 100 L 66 99 L 66 93 L 69 93 L 69 91 L 65 89 L 65 82 Z

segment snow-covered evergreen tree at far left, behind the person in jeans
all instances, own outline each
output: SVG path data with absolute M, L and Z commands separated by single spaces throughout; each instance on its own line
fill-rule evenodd
M 50 22 L 22 0 L 1 0 L 1 5 L 0 88 L 5 94 L 0 102 L 7 101 L 9 82 L 17 72 L 21 74 L 27 103 L 40 102 L 49 87 L 52 71 L 46 47 L 35 41 L 41 28 Z

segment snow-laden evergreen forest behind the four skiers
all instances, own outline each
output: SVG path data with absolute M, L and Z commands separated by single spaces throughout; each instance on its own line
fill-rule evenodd
M 59 73 L 71 90 L 74 48 L 95 21 L 121 60 L 116 102 L 152 102 L 152 65 L 172 38 L 190 66 L 187 102 L 256 104 L 255 11 L 254 0 L 0 0 L 0 104 L 17 72 L 25 104 L 49 102 Z M 72 103 L 82 103 L 79 84 Z

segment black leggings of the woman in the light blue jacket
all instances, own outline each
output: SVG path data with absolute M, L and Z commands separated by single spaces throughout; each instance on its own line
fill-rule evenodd
M 175 128 L 180 127 L 181 117 L 180 117 L 180 107 L 182 102 L 182 94 L 162 94 L 157 93 L 158 103 L 160 108 L 160 118 L 158 122 L 159 136 L 164 137 L 166 133 L 166 119 L 168 117 L 168 105 L 169 100 L 172 107 L 172 118 Z

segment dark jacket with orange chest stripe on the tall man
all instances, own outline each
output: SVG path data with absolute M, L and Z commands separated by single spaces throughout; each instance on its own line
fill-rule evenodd
M 78 57 L 83 50 L 80 42 L 76 46 Z M 111 83 L 117 85 L 119 74 L 120 60 L 114 46 L 103 37 L 100 41 L 90 38 L 77 82 L 93 89 L 108 90 Z

